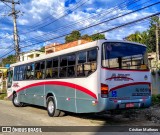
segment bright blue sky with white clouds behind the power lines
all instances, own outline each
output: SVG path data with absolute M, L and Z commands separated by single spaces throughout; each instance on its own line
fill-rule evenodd
M 16 0 L 15 0 L 16 2 Z M 64 43 L 73 30 L 92 35 L 158 13 L 160 4 L 130 13 L 159 0 L 19 0 L 16 4 L 21 52 L 38 50 L 51 43 Z M 0 59 L 15 54 L 11 4 L 0 2 Z M 124 15 L 124 16 L 122 16 Z M 122 16 L 122 17 L 121 17 Z M 101 23 L 104 22 L 105 23 Z M 98 24 L 99 25 L 96 25 Z M 100 24 L 101 23 L 101 24 Z M 94 27 L 91 27 L 94 25 Z M 86 29 L 89 27 L 88 29 Z M 149 28 L 149 19 L 105 34 L 106 39 L 123 40 Z

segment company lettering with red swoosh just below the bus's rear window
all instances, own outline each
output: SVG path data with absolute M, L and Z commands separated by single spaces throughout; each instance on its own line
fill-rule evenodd
M 110 78 L 107 78 L 106 80 L 114 80 L 114 81 L 134 81 L 132 78 L 130 78 L 130 74 L 116 74 L 116 73 L 113 73 L 111 75 Z

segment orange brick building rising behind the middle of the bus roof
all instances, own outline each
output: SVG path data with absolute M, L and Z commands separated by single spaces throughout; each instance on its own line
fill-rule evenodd
M 88 43 L 88 42 L 90 42 L 90 41 L 88 41 L 88 40 L 77 40 L 77 41 L 73 41 L 73 42 L 65 43 L 65 44 L 53 43 L 53 44 L 45 46 L 45 54 L 57 52 L 57 51 L 60 51 L 60 50 L 63 50 L 63 49 L 78 46 L 78 45 L 85 44 L 85 43 Z

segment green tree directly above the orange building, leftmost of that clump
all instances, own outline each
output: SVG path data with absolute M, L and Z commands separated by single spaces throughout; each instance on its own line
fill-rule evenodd
M 65 37 L 65 42 L 69 43 L 69 42 L 80 39 L 80 37 L 81 37 L 81 34 L 79 31 L 72 31 L 70 35 Z

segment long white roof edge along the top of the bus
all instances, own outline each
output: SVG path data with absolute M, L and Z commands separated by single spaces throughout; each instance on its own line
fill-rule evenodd
M 139 44 L 139 43 L 136 43 L 136 42 L 130 42 L 130 41 L 124 41 L 124 40 L 108 40 L 108 39 L 104 40 L 104 39 L 102 39 L 102 40 L 97 40 L 97 41 L 81 44 L 81 45 L 78 45 L 78 46 L 75 46 L 75 47 L 67 48 L 67 49 L 64 49 L 64 50 L 61 50 L 61 51 L 50 53 L 50 54 L 47 54 L 45 56 L 37 57 L 37 58 L 30 59 L 30 60 L 27 60 L 27 61 L 17 62 L 17 63 L 11 64 L 10 67 L 23 65 L 23 64 L 43 60 L 43 59 L 49 59 L 49 58 L 52 58 L 52 57 L 60 56 L 60 55 L 63 55 L 63 54 L 68 54 L 68 53 L 72 53 L 72 52 L 77 52 L 77 51 L 89 49 L 89 48 L 101 45 L 104 42 L 122 42 L 122 43 L 130 43 L 130 44 L 135 44 L 135 45 L 140 45 L 140 46 L 146 47 L 145 45 Z

